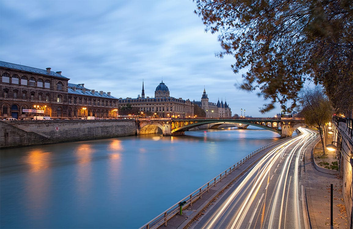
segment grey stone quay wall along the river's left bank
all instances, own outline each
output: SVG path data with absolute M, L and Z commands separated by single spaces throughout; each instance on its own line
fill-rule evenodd
M 134 120 L 0 121 L 0 149 L 136 134 Z

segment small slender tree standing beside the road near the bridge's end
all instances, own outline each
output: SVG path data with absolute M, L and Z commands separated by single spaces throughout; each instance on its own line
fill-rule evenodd
M 301 115 L 305 123 L 315 126 L 320 134 L 323 154 L 325 155 L 325 123 L 332 118 L 332 107 L 328 97 L 323 93 L 322 88 L 316 86 L 314 89 L 301 91 L 300 103 L 302 106 Z

